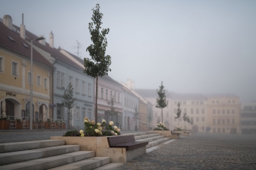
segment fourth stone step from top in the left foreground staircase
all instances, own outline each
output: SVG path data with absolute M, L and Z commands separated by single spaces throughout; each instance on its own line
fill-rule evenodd
M 110 163 L 109 157 L 93 157 L 89 159 L 84 159 L 82 161 L 76 161 L 74 163 L 69 163 L 67 165 L 62 165 L 59 167 L 51 168 L 51 170 L 90 170 L 95 169 L 97 167 L 101 167 Z M 122 163 L 120 163 L 122 165 Z M 110 167 L 113 169 L 112 167 Z M 114 167 L 115 168 L 115 167 Z

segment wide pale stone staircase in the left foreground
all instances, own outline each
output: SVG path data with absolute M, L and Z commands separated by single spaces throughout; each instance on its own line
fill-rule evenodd
M 64 140 L 36 140 L 0 144 L 0 169 L 114 169 L 109 157 L 95 157 L 93 151 L 80 151 L 79 145 Z

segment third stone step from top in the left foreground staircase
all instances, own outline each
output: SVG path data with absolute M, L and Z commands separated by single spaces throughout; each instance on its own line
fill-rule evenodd
M 83 159 L 92 158 L 94 156 L 95 156 L 95 152 L 93 151 L 78 151 L 78 152 L 71 152 L 68 154 L 62 154 L 59 156 L 51 156 L 47 158 L 39 158 L 39 159 L 33 159 L 29 161 L 22 161 L 18 163 L 11 163 L 8 165 L 0 165 L 0 169 L 6 169 L 6 170 L 51 169 L 53 167 L 59 167 L 61 165 L 66 165 L 68 163 L 81 161 Z

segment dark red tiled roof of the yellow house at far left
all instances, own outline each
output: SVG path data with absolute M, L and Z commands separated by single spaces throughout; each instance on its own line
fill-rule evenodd
M 24 56 L 27 56 L 30 58 L 31 56 L 31 46 L 29 43 L 27 43 L 22 37 L 20 37 L 20 34 L 17 32 L 14 32 L 13 30 L 10 30 L 3 24 L 3 22 L 0 22 L 0 46 L 4 47 L 5 49 L 9 49 L 11 51 L 14 51 L 15 53 L 22 54 Z M 9 39 L 11 37 L 14 41 Z M 25 44 L 27 47 L 25 47 Z M 38 51 L 33 50 L 33 59 L 38 60 L 39 62 L 51 66 L 54 68 L 53 64 L 49 62 L 45 57 L 43 57 L 41 54 L 38 53 Z

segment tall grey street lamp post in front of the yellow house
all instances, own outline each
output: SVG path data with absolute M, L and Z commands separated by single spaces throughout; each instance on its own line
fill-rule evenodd
M 30 130 L 33 129 L 33 41 L 39 41 L 45 39 L 44 37 L 38 37 L 36 39 L 31 40 L 31 58 L 30 58 Z

